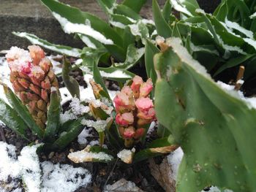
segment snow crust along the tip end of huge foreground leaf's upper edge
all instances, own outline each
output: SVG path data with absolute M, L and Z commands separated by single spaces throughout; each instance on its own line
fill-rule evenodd
M 211 80 L 210 74 L 207 73 L 206 68 L 199 64 L 192 55 L 189 54 L 187 49 L 181 45 L 181 39 L 176 37 L 171 37 L 166 39 L 167 45 L 173 48 L 173 51 L 178 55 L 178 57 L 186 64 L 189 64 L 196 72 L 202 74 L 204 77 Z

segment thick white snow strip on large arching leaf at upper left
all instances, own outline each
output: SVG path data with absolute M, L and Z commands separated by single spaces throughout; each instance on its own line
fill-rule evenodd
M 107 39 L 103 34 L 99 33 L 99 31 L 94 30 L 94 28 L 91 28 L 91 23 L 86 22 L 85 24 L 81 23 L 71 23 L 67 18 L 61 17 L 56 12 L 52 12 L 53 16 L 56 18 L 56 20 L 61 23 L 61 26 L 63 30 L 67 34 L 72 33 L 79 33 L 79 34 L 85 34 L 89 37 L 93 37 L 94 39 L 97 39 L 97 41 L 101 42 L 105 45 L 113 45 L 113 41 L 111 39 Z

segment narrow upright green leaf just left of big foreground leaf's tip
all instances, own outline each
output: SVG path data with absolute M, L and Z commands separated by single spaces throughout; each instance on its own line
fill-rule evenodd
M 153 57 L 156 53 L 159 53 L 159 51 L 160 50 L 149 39 L 146 40 L 145 66 L 148 78 L 151 78 L 153 84 L 155 84 L 157 80 L 157 73 L 154 70 Z

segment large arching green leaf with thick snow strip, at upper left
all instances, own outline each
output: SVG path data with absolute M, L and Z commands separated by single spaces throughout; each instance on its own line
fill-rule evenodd
M 124 61 L 122 39 L 108 23 L 59 1 L 41 1 L 50 9 L 67 34 L 78 33 L 92 37 L 101 42 L 118 60 Z

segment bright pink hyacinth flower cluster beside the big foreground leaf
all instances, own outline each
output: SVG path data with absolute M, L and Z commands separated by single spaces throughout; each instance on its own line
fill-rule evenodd
M 132 85 L 124 86 L 116 94 L 116 124 L 124 139 L 138 141 L 145 134 L 145 126 L 156 120 L 153 101 L 148 97 L 152 88 L 151 79 L 143 82 L 141 77 L 135 76 Z

